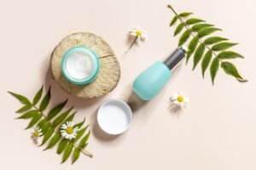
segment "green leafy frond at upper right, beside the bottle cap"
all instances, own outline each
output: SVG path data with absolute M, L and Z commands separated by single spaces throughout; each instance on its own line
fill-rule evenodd
M 192 37 L 188 42 L 189 46 L 186 62 L 188 63 L 190 57 L 194 54 L 193 71 L 195 70 L 195 67 L 201 62 L 201 71 L 204 77 L 208 66 L 211 65 L 210 75 L 212 78 L 212 84 L 214 84 L 219 65 L 221 65 L 221 68 L 228 75 L 236 77 L 239 82 L 247 82 L 247 80 L 241 77 L 241 75 L 238 73 L 235 65 L 224 61 L 224 59 L 243 59 L 241 54 L 237 54 L 236 52 L 232 51 L 225 51 L 237 45 L 237 43 L 227 42 L 228 39 L 224 37 L 208 37 L 212 35 L 212 33 L 222 30 L 214 27 L 212 24 L 208 24 L 206 20 L 188 18 L 192 13 L 185 12 L 177 14 L 171 5 L 168 5 L 167 7 L 171 8 L 172 12 L 175 14 L 170 26 L 173 26 L 177 21 L 179 21 L 179 24 L 174 31 L 174 36 L 177 36 L 177 34 L 184 30 L 178 41 L 178 46 L 182 46 L 189 41 L 189 37 Z M 186 16 L 188 19 L 184 19 L 183 16 Z M 207 53 L 205 54 L 206 51 Z M 213 59 L 212 56 L 214 56 Z

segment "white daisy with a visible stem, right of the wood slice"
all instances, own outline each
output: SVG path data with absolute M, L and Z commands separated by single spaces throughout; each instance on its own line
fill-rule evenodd
M 143 31 L 140 26 L 131 27 L 129 35 L 130 37 L 134 37 L 134 40 L 131 43 L 131 46 L 126 50 L 125 54 L 136 44 L 138 39 L 143 41 L 148 37 L 147 31 Z

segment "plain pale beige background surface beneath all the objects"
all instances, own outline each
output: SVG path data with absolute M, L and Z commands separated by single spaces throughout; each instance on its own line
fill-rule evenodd
M 249 82 L 239 83 L 219 71 L 212 87 L 207 72 L 191 71 L 182 65 L 166 88 L 154 100 L 134 113 L 132 126 L 123 135 L 110 137 L 95 124 L 96 110 L 106 99 L 127 100 L 131 82 L 148 65 L 164 59 L 177 45 L 168 24 L 177 11 L 192 11 L 195 16 L 223 28 L 221 33 L 234 42 L 246 59 L 236 65 Z M 0 1 L 0 76 L 1 121 L 0 162 L 2 169 L 175 169 L 238 170 L 256 169 L 255 102 L 255 16 L 254 0 L 164 1 L 164 0 L 1 0 Z M 149 32 L 147 42 L 131 53 L 126 33 L 131 26 Z M 102 36 L 114 49 L 122 75 L 117 88 L 100 99 L 76 99 L 64 93 L 49 77 L 49 55 L 62 37 L 75 31 L 91 31 Z M 60 165 L 55 149 L 42 151 L 23 131 L 26 121 L 15 121 L 20 104 L 7 90 L 32 98 L 42 83 L 53 88 L 53 103 L 66 98 L 79 110 L 76 120 L 86 116 L 92 136 L 90 159 L 81 156 L 73 166 Z M 189 94 L 183 112 L 169 108 L 174 91 Z

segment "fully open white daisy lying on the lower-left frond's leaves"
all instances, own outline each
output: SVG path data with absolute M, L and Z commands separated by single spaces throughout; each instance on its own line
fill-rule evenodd
M 61 136 L 65 139 L 75 139 L 79 127 L 73 127 L 74 122 L 67 122 L 61 125 Z

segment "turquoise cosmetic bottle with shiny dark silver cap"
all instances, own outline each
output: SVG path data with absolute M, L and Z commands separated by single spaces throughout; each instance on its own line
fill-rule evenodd
M 186 54 L 183 47 L 177 48 L 164 62 L 157 61 L 143 71 L 133 82 L 133 91 L 143 100 L 153 99 L 172 77 L 172 70 Z

